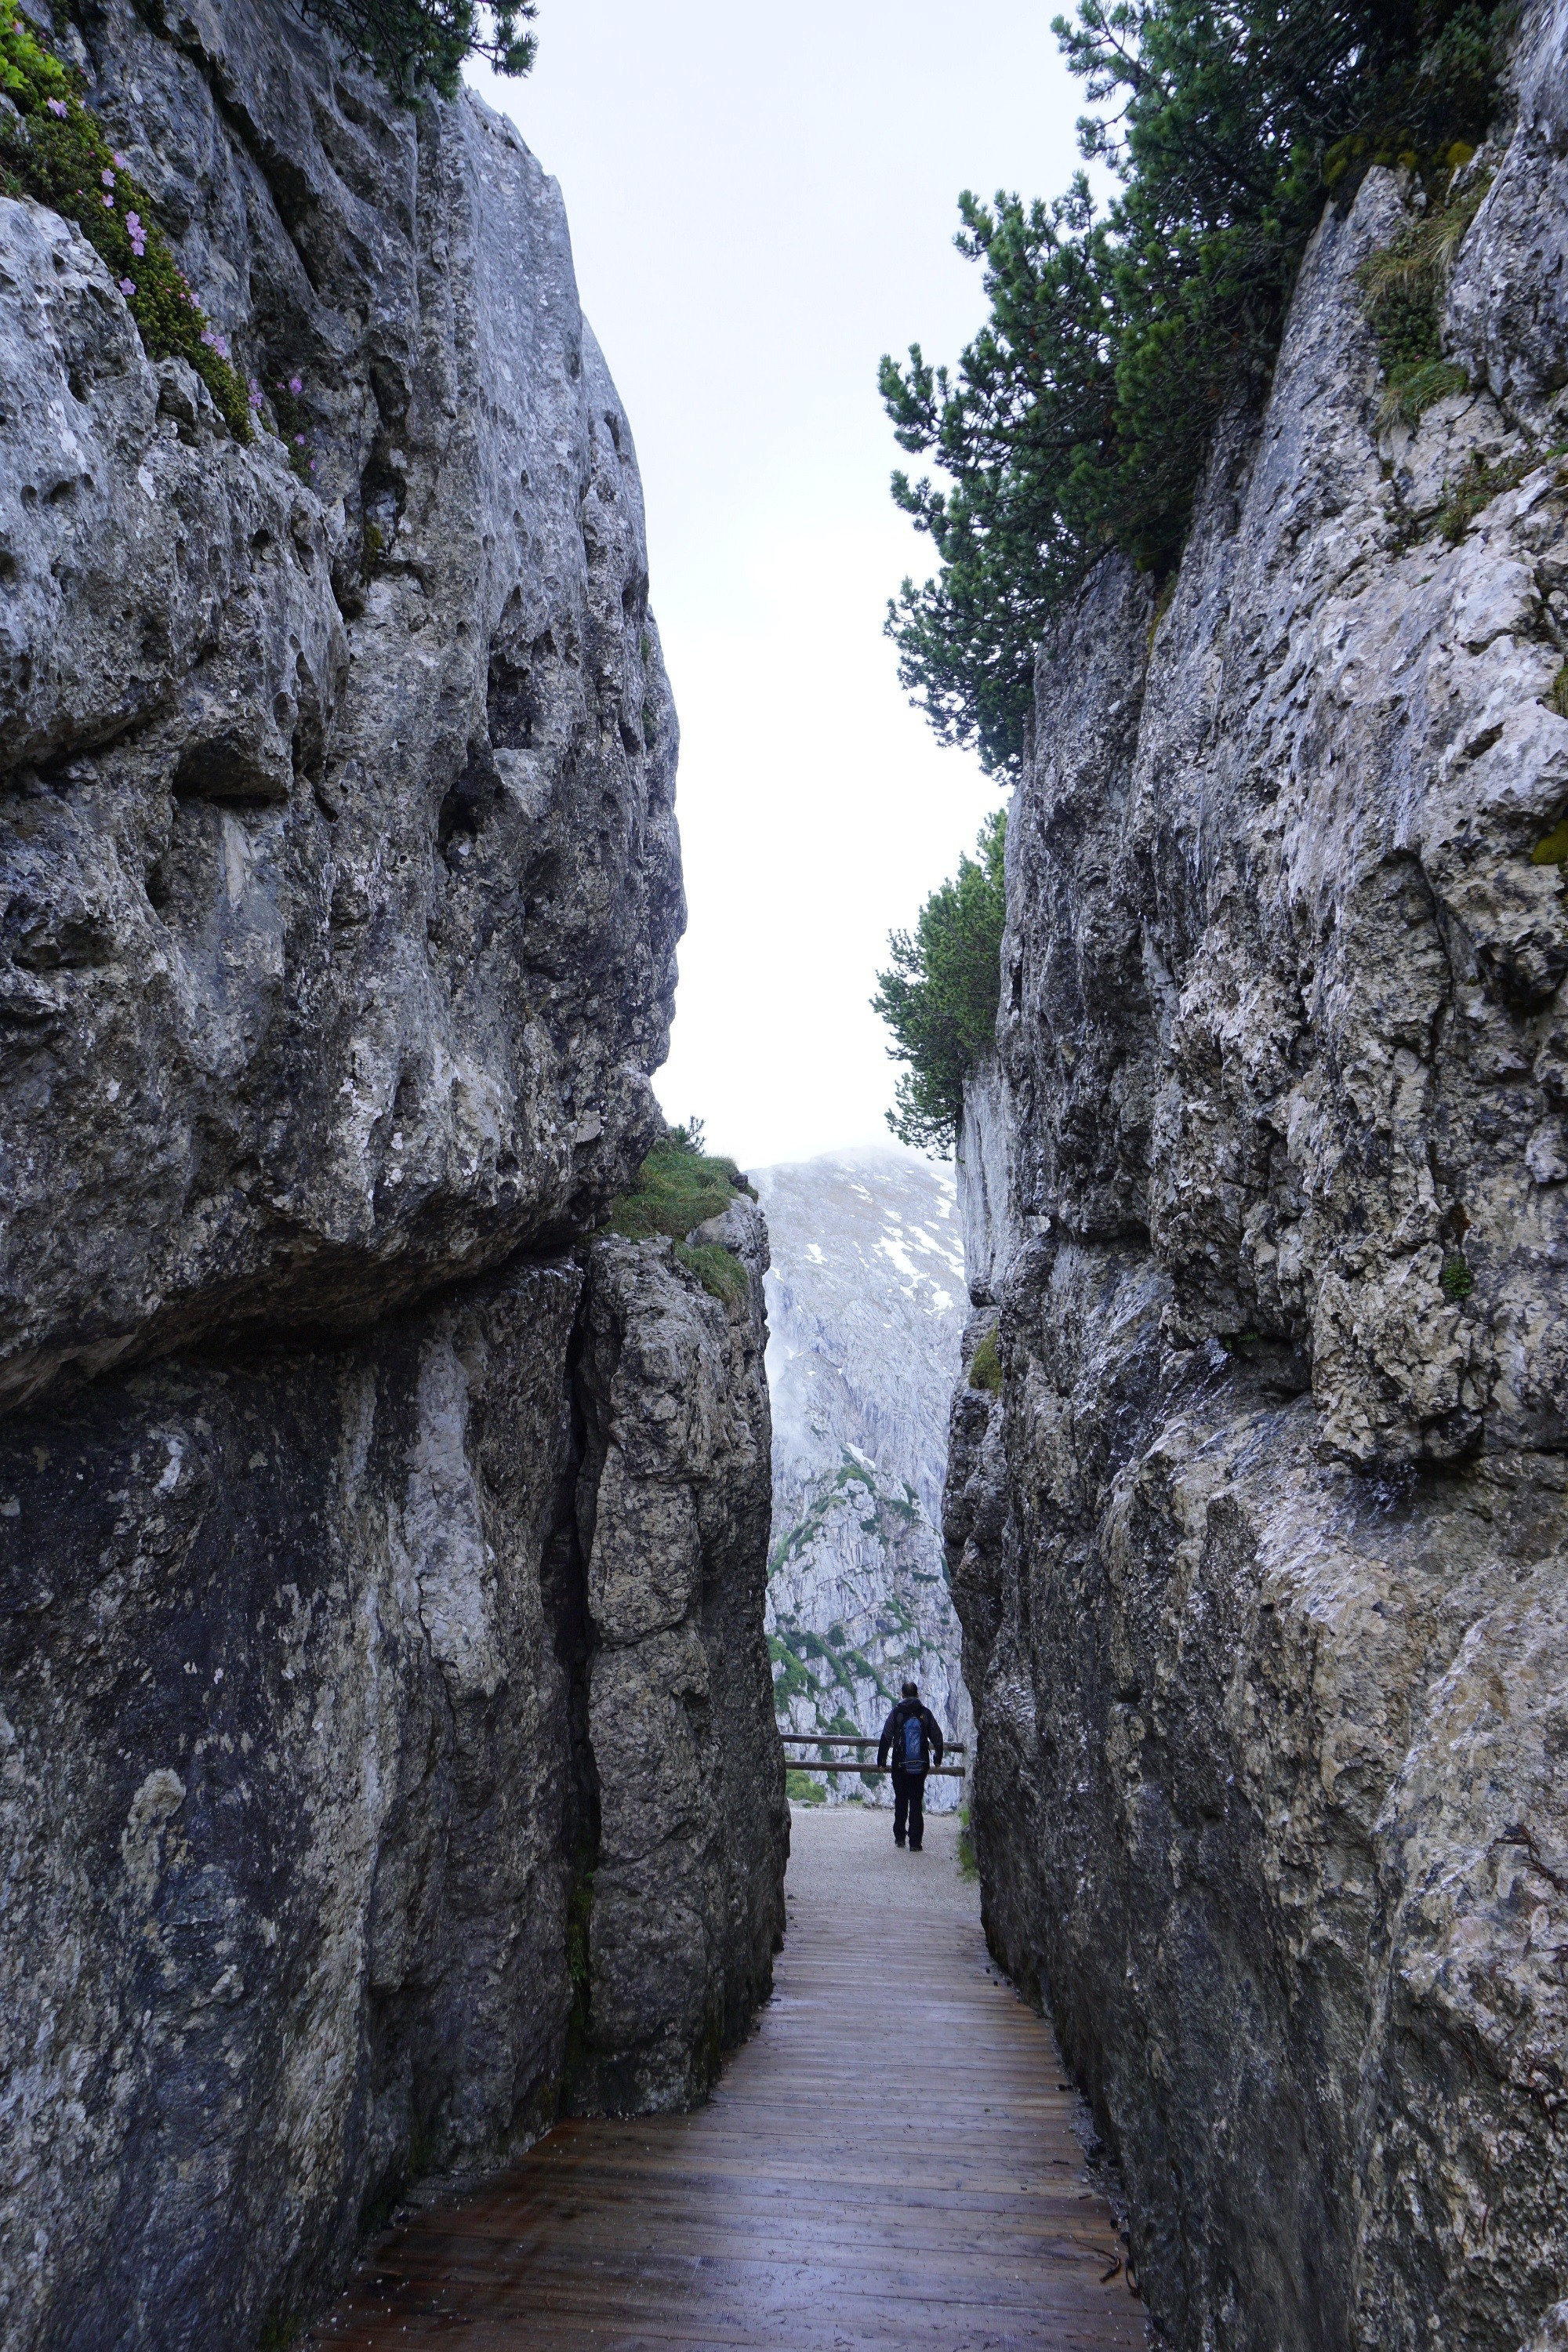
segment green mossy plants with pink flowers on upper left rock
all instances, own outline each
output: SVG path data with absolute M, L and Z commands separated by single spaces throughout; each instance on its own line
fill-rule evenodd
M 113 153 L 66 68 L 9 9 L 0 9 L 0 89 L 19 120 L 0 122 L 0 193 L 31 195 L 82 230 L 125 294 L 150 360 L 188 360 L 235 440 L 252 437 L 252 400 L 186 285 L 153 202 Z

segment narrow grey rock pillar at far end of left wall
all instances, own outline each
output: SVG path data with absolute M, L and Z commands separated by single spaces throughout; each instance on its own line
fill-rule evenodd
M 771 1985 L 790 1811 L 762 1630 L 766 1225 L 698 1228 L 748 1270 L 715 1301 L 670 1242 L 597 1242 L 585 1317 L 588 1978 L 571 2103 L 701 2098 Z

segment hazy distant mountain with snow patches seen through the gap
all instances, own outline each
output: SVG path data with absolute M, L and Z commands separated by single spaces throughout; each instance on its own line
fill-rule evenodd
M 792 1731 L 875 1736 L 912 1677 L 943 1731 L 971 1740 L 938 1534 L 966 1312 L 952 1174 L 889 1148 L 762 1169 L 752 1181 L 773 1244 L 778 1719 Z M 842 1776 L 830 1792 L 865 1790 Z M 957 1804 L 957 1780 L 931 1783 L 938 1806 Z

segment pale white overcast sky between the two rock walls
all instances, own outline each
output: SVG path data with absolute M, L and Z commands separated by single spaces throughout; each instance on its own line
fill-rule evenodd
M 475 75 L 562 183 L 637 437 L 691 906 L 656 1087 L 741 1162 L 886 1141 L 886 934 L 997 804 L 882 635 L 929 555 L 877 358 L 983 318 L 959 188 L 1067 183 L 1060 7 L 545 0 L 531 78 Z

